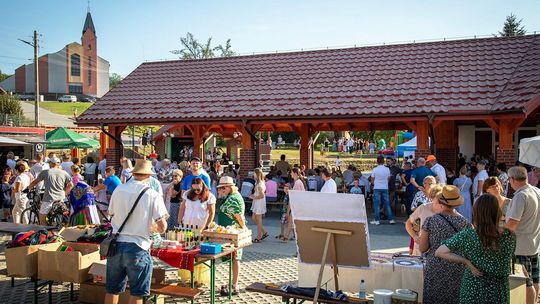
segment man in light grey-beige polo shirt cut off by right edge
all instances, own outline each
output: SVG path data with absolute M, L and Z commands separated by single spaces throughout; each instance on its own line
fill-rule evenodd
M 540 287 L 540 190 L 528 184 L 527 170 L 512 167 L 508 182 L 516 192 L 506 211 L 506 227 L 516 234 L 516 262 L 527 269 L 527 303 L 536 303 Z

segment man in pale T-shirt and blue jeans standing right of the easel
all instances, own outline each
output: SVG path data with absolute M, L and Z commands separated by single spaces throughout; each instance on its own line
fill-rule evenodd
M 384 156 L 377 157 L 377 167 L 371 172 L 371 183 L 373 184 L 373 208 L 375 209 L 375 219 L 370 222 L 379 225 L 381 219 L 381 200 L 384 204 L 386 216 L 390 224 L 395 224 L 392 208 L 390 206 L 390 195 L 388 191 L 388 180 L 390 179 L 390 169 L 384 165 Z

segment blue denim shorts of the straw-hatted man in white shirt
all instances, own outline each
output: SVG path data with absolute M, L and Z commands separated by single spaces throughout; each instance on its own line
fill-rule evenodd
M 135 297 L 150 295 L 152 258 L 148 250 L 135 243 L 117 243 L 116 254 L 107 258 L 107 293 L 119 294 L 126 289 Z

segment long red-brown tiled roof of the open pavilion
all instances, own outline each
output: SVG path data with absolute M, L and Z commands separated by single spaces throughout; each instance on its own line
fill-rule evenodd
M 523 111 L 540 35 L 143 63 L 79 124 Z

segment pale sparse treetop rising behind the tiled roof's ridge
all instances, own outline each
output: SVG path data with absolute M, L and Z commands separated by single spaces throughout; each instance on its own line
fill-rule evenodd
M 232 51 L 231 39 L 228 39 L 225 46 L 218 45 L 212 46 L 212 37 L 206 40 L 206 43 L 199 43 L 192 33 L 187 33 L 186 37 L 180 38 L 182 49 L 172 50 L 171 53 L 179 55 L 180 59 L 208 59 L 216 57 L 216 51 L 220 51 L 219 57 L 234 56 L 235 52 Z

